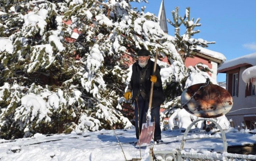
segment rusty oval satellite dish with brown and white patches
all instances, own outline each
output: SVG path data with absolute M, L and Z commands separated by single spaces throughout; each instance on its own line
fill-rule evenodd
M 230 93 L 215 84 L 199 83 L 186 88 L 181 95 L 183 108 L 202 118 L 216 118 L 227 114 L 233 105 Z

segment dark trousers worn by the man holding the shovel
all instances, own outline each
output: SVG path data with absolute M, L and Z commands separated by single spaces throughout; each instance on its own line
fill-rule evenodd
M 145 123 L 148 111 L 148 101 L 145 101 L 141 96 L 135 100 L 135 128 L 136 138 L 139 139 L 142 124 Z M 161 139 L 161 127 L 160 127 L 160 106 L 151 109 L 151 122 L 155 122 L 154 141 Z M 139 126 L 138 126 L 139 125 Z

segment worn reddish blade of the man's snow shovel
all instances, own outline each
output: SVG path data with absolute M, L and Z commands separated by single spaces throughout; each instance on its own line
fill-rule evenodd
M 155 131 L 155 122 L 147 120 L 146 123 L 142 124 L 142 129 L 139 136 L 139 141 L 136 147 L 146 147 L 149 145 L 151 139 L 153 138 Z

